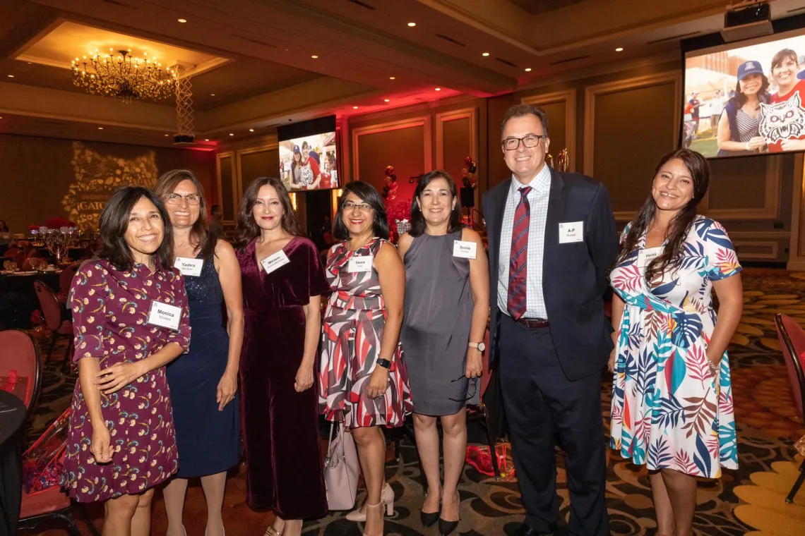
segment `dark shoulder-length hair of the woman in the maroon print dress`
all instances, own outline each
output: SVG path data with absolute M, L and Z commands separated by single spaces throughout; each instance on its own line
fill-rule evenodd
M 162 268 L 171 268 L 173 261 L 173 227 L 167 215 L 162 200 L 154 192 L 142 186 L 123 186 L 114 192 L 106 202 L 98 231 L 101 235 L 100 244 L 95 252 L 98 258 L 109 260 L 115 269 L 127 272 L 134 267 L 134 256 L 131 254 L 129 243 L 126 242 L 126 230 L 129 228 L 129 215 L 134 205 L 147 198 L 159 211 L 162 218 L 163 237 L 154 256 L 159 260 Z

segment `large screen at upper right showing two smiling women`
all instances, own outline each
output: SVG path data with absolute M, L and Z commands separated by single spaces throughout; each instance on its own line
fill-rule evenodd
M 805 151 L 805 28 L 686 51 L 681 107 L 705 157 Z

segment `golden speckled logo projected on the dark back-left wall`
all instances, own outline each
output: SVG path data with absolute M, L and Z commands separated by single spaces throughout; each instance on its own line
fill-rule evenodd
M 97 228 L 101 211 L 114 190 L 121 186 L 152 188 L 158 177 L 154 151 L 126 159 L 103 156 L 81 141 L 73 141 L 71 163 L 76 182 L 68 187 L 61 204 L 68 218 L 82 229 Z

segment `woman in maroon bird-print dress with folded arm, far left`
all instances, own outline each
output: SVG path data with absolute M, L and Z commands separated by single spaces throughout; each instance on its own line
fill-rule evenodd
M 76 501 L 106 501 L 105 536 L 145 536 L 154 487 L 177 467 L 165 365 L 190 346 L 188 297 L 169 264 L 170 219 L 149 190 L 112 194 L 100 234 L 70 290 L 79 376 L 66 487 Z

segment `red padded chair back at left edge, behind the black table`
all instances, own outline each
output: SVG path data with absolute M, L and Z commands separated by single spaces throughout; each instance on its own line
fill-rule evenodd
M 30 333 L 21 329 L 6 329 L 0 331 L 0 376 L 9 378 L 14 371 L 17 382 L 23 385 L 24 392 L 19 398 L 25 403 L 27 415 L 34 410 L 36 400 L 39 399 L 39 389 L 42 384 L 42 358 L 39 345 Z M 6 387 L 8 384 L 6 383 Z M 17 395 L 17 391 L 13 391 Z

